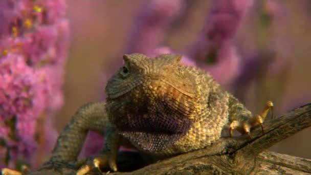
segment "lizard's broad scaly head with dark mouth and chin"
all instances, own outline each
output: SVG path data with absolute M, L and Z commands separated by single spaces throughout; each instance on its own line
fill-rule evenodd
M 106 85 L 107 114 L 121 135 L 146 151 L 162 151 L 193 123 L 198 99 L 195 75 L 181 55 L 124 55 Z

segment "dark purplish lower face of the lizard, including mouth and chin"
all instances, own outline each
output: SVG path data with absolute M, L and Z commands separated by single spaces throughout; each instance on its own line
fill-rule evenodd
M 192 126 L 193 120 L 187 114 L 165 101 L 157 105 L 146 101 L 131 104 L 124 105 L 127 106 L 124 110 L 110 113 L 109 120 L 124 138 L 144 151 L 161 152 L 171 147 Z

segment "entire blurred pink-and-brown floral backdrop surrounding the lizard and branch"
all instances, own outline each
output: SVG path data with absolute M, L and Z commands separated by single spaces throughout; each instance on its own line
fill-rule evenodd
M 310 9 L 309 0 L 1 0 L 0 168 L 47 160 L 76 110 L 105 99 L 123 54 L 181 53 L 253 114 L 268 100 L 275 116 L 311 102 Z M 306 128 L 271 150 L 311 159 L 310 137 Z M 103 141 L 90 132 L 85 143 L 80 156 Z

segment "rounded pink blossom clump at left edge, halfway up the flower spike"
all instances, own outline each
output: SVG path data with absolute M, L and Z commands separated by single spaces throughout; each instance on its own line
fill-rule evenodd
M 24 58 L 8 54 L 0 60 L 0 118 L 34 119 L 46 106 L 46 93 L 43 81 L 33 69 L 28 67 Z

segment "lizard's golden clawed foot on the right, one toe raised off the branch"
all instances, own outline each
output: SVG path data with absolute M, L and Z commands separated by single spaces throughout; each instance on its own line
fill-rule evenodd
M 272 101 L 268 101 L 265 103 L 265 107 L 263 108 L 261 114 L 254 115 L 250 120 L 244 121 L 244 122 L 238 122 L 236 120 L 232 121 L 229 125 L 230 127 L 230 137 L 232 137 L 232 131 L 234 129 L 237 129 L 240 133 L 246 133 L 249 135 L 250 139 L 252 139 L 251 136 L 251 128 L 260 125 L 262 135 L 263 135 L 263 126 L 262 123 L 264 122 L 264 119 L 268 112 L 271 111 L 271 118 L 273 118 L 273 103 Z

